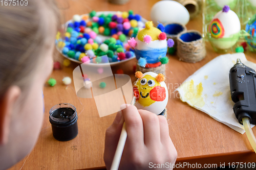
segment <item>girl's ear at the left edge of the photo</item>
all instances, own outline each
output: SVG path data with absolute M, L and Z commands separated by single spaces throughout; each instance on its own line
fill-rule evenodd
M 11 86 L 0 100 L 0 145 L 8 142 L 11 116 L 20 93 L 18 86 Z

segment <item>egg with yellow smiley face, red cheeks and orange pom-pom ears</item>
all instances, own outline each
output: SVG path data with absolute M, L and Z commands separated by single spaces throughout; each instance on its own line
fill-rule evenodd
M 155 114 L 160 114 L 168 102 L 168 90 L 164 83 L 164 76 L 155 72 L 137 71 L 136 81 L 133 92 L 136 96 L 135 106 L 138 109 L 147 110 Z

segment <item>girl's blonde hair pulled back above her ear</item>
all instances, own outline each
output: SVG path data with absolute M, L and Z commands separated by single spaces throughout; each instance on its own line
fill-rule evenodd
M 47 18 L 47 12 L 52 17 Z M 56 31 L 59 18 L 54 0 L 0 7 L 0 99 L 11 85 L 22 90 L 29 86 L 42 54 L 52 45 L 49 28 Z

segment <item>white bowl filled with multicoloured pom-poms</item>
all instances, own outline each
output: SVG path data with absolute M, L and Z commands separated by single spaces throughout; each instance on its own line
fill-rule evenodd
M 136 37 L 146 21 L 132 10 L 74 15 L 57 33 L 56 48 L 64 57 L 80 64 L 90 60 L 92 66 L 117 65 L 135 58 L 127 40 Z

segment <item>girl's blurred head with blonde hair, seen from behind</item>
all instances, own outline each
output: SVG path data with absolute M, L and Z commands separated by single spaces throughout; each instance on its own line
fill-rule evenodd
M 54 0 L 0 7 L 0 169 L 28 154 L 39 135 L 58 21 Z

